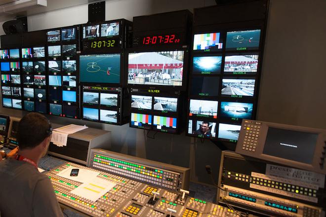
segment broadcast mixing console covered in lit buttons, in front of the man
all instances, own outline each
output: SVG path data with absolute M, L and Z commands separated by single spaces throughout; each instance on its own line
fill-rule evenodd
M 197 198 L 185 196 L 178 192 L 179 183 L 184 178 L 184 173 L 189 169 L 176 167 L 174 170 L 154 169 L 153 164 L 147 166 L 134 163 L 138 159 L 129 161 L 117 158 L 117 153 L 101 149 L 92 149 L 90 167 L 80 166 L 66 162 L 46 173 L 59 203 L 69 206 L 89 216 L 103 217 L 240 217 L 248 216 L 231 208 L 212 204 Z M 115 157 L 112 157 L 112 154 Z M 120 154 L 119 154 L 120 155 Z M 131 160 L 130 160 L 131 159 Z M 146 159 L 143 159 L 146 161 Z M 152 162 L 153 163 L 153 162 Z M 161 165 L 161 163 L 158 163 Z M 158 166 L 160 166 L 158 165 Z M 111 167 L 117 168 L 115 171 Z M 162 166 L 162 165 L 161 165 Z M 97 178 L 113 182 L 114 187 L 103 194 L 98 200 L 92 202 L 84 197 L 71 193 L 82 183 L 57 176 L 66 168 L 80 168 L 87 171 L 97 171 Z M 94 169 L 94 167 L 97 168 Z M 100 168 L 103 167 L 103 168 Z M 174 167 L 169 165 L 169 167 Z M 109 169 L 111 171 L 109 171 Z M 68 169 L 69 170 L 69 169 Z M 179 170 L 179 173 L 178 171 Z M 108 171 L 108 172 L 105 172 Z M 121 173 L 121 174 L 119 174 Z M 134 176 L 134 173 L 141 174 Z M 117 175 L 119 174 L 119 175 Z M 147 178 L 152 176 L 153 179 Z M 187 175 L 188 176 L 188 175 Z M 127 178 L 128 177 L 128 178 Z M 157 179 L 162 180 L 161 182 Z M 185 180 L 183 183 L 187 182 Z M 159 186 L 162 187 L 159 187 Z

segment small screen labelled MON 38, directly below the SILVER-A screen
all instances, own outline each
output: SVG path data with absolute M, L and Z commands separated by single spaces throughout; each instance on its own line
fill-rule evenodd
M 255 89 L 255 79 L 222 79 L 222 95 L 252 97 Z

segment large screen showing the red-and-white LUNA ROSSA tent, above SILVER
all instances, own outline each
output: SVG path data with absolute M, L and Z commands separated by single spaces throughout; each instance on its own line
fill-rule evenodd
M 182 86 L 184 51 L 128 54 L 128 84 Z

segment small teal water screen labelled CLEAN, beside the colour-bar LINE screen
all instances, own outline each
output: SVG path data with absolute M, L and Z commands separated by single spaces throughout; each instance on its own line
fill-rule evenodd
M 227 32 L 225 50 L 257 50 L 260 30 Z

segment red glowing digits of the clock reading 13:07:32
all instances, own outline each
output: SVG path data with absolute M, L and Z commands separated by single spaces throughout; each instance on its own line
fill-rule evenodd
M 180 44 L 180 36 L 175 34 L 158 35 L 158 36 L 143 36 L 140 38 L 140 43 L 143 45 L 153 44 Z

